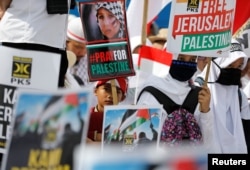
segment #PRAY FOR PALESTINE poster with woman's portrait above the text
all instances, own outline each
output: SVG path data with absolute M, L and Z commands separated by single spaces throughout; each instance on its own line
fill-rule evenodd
M 124 0 L 79 0 L 90 81 L 134 76 Z

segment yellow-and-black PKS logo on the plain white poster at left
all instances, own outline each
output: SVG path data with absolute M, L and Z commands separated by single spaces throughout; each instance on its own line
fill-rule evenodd
M 13 56 L 11 83 L 30 85 L 32 58 Z

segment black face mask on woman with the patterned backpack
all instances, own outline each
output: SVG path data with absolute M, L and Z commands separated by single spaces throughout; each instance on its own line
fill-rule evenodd
M 169 74 L 176 80 L 188 81 L 197 71 L 197 63 L 173 60 Z

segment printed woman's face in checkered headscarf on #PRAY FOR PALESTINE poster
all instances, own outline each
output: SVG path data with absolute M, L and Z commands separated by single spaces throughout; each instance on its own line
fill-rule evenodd
M 125 20 L 122 6 L 119 2 L 98 2 L 95 5 L 96 18 L 103 39 L 125 37 Z

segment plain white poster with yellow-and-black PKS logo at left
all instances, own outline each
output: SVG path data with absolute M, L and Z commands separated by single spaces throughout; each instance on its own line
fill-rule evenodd
M 0 46 L 0 50 L 2 84 L 41 90 L 58 88 L 60 54 L 22 50 L 3 45 Z

